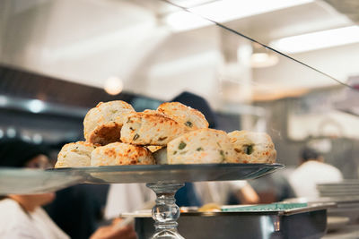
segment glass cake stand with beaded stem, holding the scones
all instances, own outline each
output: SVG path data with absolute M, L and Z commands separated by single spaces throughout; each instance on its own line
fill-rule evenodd
M 180 208 L 174 195 L 184 183 L 254 179 L 283 167 L 281 164 L 138 165 L 55 168 L 51 171 L 80 175 L 85 184 L 146 183 L 157 196 L 152 209 L 155 233 L 151 238 L 170 239 L 183 238 L 177 231 Z

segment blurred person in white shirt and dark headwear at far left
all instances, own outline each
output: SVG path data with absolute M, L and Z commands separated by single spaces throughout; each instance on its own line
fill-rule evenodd
M 47 168 L 47 151 L 39 145 L 21 140 L 0 141 L 0 166 Z M 0 198 L 0 238 L 70 238 L 52 220 L 41 206 L 55 199 L 55 193 L 9 194 Z M 69 215 L 71 217 L 71 215 Z M 116 222 L 115 222 L 116 223 Z M 92 239 L 135 239 L 132 226 L 116 228 L 103 226 Z

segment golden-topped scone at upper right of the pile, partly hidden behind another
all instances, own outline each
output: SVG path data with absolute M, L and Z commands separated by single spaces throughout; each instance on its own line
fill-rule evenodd
M 157 111 L 185 125 L 188 131 L 208 128 L 205 115 L 180 102 L 165 102 L 157 108 Z

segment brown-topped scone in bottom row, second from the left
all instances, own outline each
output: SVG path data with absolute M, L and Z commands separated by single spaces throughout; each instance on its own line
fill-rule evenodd
M 91 166 L 153 165 L 150 150 L 127 143 L 113 142 L 92 151 Z

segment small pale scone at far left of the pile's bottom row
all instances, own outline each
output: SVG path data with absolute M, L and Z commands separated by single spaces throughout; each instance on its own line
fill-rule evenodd
M 96 146 L 89 142 L 67 143 L 57 156 L 55 167 L 90 166 L 91 153 Z

